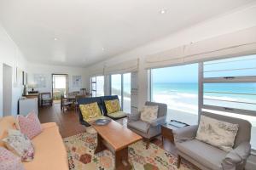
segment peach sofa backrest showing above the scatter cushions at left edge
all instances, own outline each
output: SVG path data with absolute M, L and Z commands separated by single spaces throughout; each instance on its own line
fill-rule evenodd
M 4 116 L 0 118 L 0 146 L 4 146 L 3 141 L 8 136 L 9 129 L 16 129 L 16 120 L 14 116 Z

